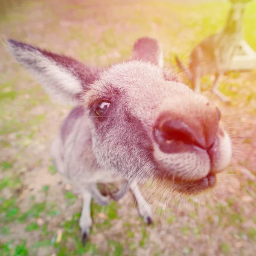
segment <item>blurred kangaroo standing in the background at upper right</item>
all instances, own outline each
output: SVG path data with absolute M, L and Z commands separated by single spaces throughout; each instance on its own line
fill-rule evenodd
M 249 1 L 251 0 L 230 0 L 232 5 L 224 29 L 205 38 L 192 50 L 188 68 L 184 67 L 179 58 L 175 56 L 177 66 L 192 81 L 195 93 L 201 93 L 200 79 L 202 76 L 215 75 L 211 86 L 212 93 L 215 93 L 223 102 L 230 101 L 218 90 L 218 87 L 225 71 L 230 70 L 234 53 L 243 39 L 244 7 Z

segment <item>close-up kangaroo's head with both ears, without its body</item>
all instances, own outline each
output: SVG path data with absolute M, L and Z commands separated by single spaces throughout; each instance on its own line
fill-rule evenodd
M 102 168 L 126 179 L 157 177 L 189 195 L 214 187 L 229 164 L 220 111 L 162 68 L 154 39 L 141 38 L 129 61 L 105 69 L 12 40 L 8 47 L 54 99 L 87 109 Z

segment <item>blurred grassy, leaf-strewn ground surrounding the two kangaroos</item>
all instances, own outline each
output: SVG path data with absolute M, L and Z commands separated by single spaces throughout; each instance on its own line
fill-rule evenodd
M 108 66 L 128 59 L 135 40 L 151 36 L 162 44 L 166 66 L 176 68 L 174 55 L 186 65 L 193 47 L 224 26 L 229 9 L 228 1 L 214 0 L 1 0 L 0 37 Z M 244 39 L 256 50 L 256 1 L 247 5 L 243 24 Z M 205 89 L 212 82 L 202 81 Z M 52 102 L 1 43 L 0 256 L 254 256 L 256 69 L 229 72 L 220 90 L 230 105 L 203 92 L 221 108 L 234 148 L 215 192 L 161 198 L 151 189 L 149 227 L 130 193 L 118 204 L 93 204 L 93 230 L 83 247 L 81 198 L 62 183 L 49 155 L 70 107 Z

